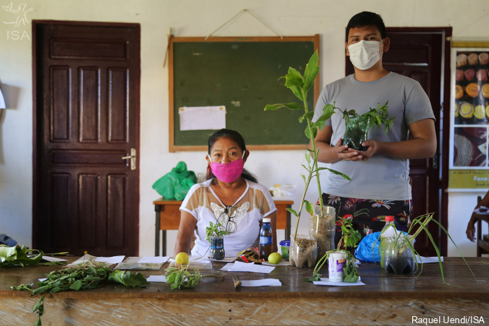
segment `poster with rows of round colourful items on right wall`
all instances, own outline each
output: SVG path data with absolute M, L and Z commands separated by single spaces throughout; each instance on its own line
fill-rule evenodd
M 468 47 L 470 45 L 471 47 Z M 489 188 L 489 42 L 453 43 L 448 188 Z

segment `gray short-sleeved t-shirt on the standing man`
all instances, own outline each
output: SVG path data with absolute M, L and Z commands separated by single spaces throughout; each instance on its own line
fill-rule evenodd
M 409 124 L 422 119 L 435 119 L 430 100 L 421 84 L 409 77 L 389 73 L 386 77 L 374 82 L 358 82 L 355 75 L 346 76 L 326 85 L 316 103 L 313 121 L 322 114 L 326 104 L 333 104 L 342 111 L 356 110 L 363 114 L 370 108 L 377 108 L 378 103 L 388 102 L 389 117 L 393 128 L 386 135 L 382 125 L 379 130 L 372 126 L 368 139 L 379 142 L 398 142 L 407 140 Z M 345 124 L 339 110 L 326 121 L 333 128 L 332 146 L 344 137 Z M 409 200 L 409 160 L 390 156 L 374 155 L 368 161 L 337 161 L 331 168 L 351 178 L 351 181 L 339 175 L 330 174 L 322 188 L 325 193 L 349 198 L 374 200 Z

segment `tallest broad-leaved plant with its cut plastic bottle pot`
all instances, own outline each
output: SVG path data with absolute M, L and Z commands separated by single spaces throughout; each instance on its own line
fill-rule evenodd
M 317 218 L 324 218 L 325 222 L 323 224 L 325 225 L 328 224 L 334 225 L 335 223 L 335 214 L 329 214 L 329 213 L 326 214 L 324 209 L 325 207 L 323 205 L 323 199 L 321 198 L 322 191 L 321 191 L 321 183 L 319 181 L 319 172 L 321 170 L 329 170 L 331 173 L 334 173 L 336 175 L 341 175 L 345 179 L 351 180 L 348 176 L 336 170 L 332 170 L 330 168 L 318 167 L 317 157 L 319 154 L 319 149 L 316 148 L 314 138 L 316 137 L 317 129 L 323 128 L 324 122 L 327 119 L 329 119 L 331 115 L 333 115 L 333 113 L 335 113 L 334 105 L 326 105 L 328 109 L 326 110 L 325 108 L 325 110 L 323 110 L 323 114 L 321 115 L 321 117 L 314 124 L 311 121 L 312 117 L 314 116 L 314 109 L 309 110 L 309 108 L 307 107 L 307 93 L 309 92 L 309 89 L 311 89 L 312 84 L 314 83 L 314 79 L 316 78 L 316 75 L 318 73 L 319 73 L 319 56 L 316 51 L 314 52 L 311 59 L 309 59 L 309 62 L 305 66 L 304 75 L 301 75 L 300 72 L 294 68 L 289 68 L 289 72 L 287 73 L 287 75 L 280 77 L 280 79 L 282 78 L 285 79 L 285 86 L 291 89 L 293 94 L 297 96 L 302 101 L 303 104 L 293 102 L 293 103 L 279 103 L 279 104 L 272 104 L 272 105 L 269 104 L 265 106 L 265 110 L 278 110 L 279 108 L 289 108 L 290 110 L 302 110 L 304 114 L 302 115 L 302 117 L 300 117 L 299 122 L 300 123 L 302 123 L 303 121 L 307 122 L 307 126 L 305 128 L 305 135 L 307 136 L 307 138 L 309 138 L 309 140 L 311 140 L 311 144 L 312 144 L 312 149 L 307 149 L 305 153 L 307 166 L 302 165 L 305 168 L 305 170 L 307 170 L 307 176 L 302 175 L 302 179 L 305 182 L 305 188 L 304 188 L 304 193 L 302 193 L 302 199 L 300 200 L 299 212 L 295 212 L 295 210 L 291 208 L 287 209 L 289 212 L 294 214 L 295 217 L 297 218 L 297 223 L 295 225 L 295 232 L 291 236 L 291 247 L 289 251 L 289 260 L 291 262 L 291 265 L 297 267 L 302 267 L 305 264 L 307 264 L 308 267 L 314 266 L 314 263 L 316 262 L 316 255 L 317 255 L 316 240 L 314 238 L 310 239 L 309 237 L 306 236 L 299 237 L 297 235 L 302 207 L 305 206 L 307 212 L 309 212 L 309 214 L 311 214 L 313 218 L 315 216 Z M 311 202 L 305 200 L 307 188 L 309 187 L 309 184 L 311 183 L 314 177 L 316 177 L 316 183 L 319 192 L 319 205 L 317 207 L 314 207 L 314 205 L 312 205 Z

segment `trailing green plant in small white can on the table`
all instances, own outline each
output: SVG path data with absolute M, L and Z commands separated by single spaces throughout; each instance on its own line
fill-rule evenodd
M 333 273 L 336 272 L 341 273 L 341 281 L 346 283 L 356 283 L 358 281 L 358 272 L 355 267 L 356 258 L 350 251 L 346 250 L 347 248 L 355 248 L 360 242 L 360 233 L 353 229 L 351 218 L 342 218 L 342 237 L 340 238 L 340 242 L 338 242 L 337 249 L 328 251 L 323 257 L 321 257 L 314 268 L 314 272 L 312 274 L 312 279 L 306 279 L 305 281 L 319 281 L 321 279 L 321 274 L 319 274 L 319 270 L 323 267 L 325 262 L 329 262 L 330 271 L 330 281 L 333 279 Z M 343 244 L 343 249 L 340 249 Z M 342 270 L 337 271 L 337 265 L 335 264 L 336 260 L 333 260 L 333 256 L 342 256 L 344 259 L 344 267 Z M 341 282 L 340 281 L 340 282 Z

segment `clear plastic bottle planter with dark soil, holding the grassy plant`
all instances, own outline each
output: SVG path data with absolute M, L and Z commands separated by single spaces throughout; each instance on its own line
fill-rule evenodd
M 393 241 L 393 239 L 384 238 L 383 241 L 386 243 L 384 251 L 384 269 L 386 272 L 395 274 L 416 272 L 413 251 L 406 244 L 409 239 L 401 237 L 397 241 Z

